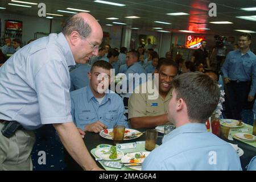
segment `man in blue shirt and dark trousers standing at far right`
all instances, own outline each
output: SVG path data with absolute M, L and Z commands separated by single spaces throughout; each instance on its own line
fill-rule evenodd
M 242 109 L 251 109 L 256 92 L 256 56 L 250 51 L 251 35 L 242 34 L 240 49 L 231 51 L 222 66 L 224 82 L 228 89 L 229 118 L 241 119 Z M 249 102 L 247 102 L 249 101 Z M 230 108 L 231 107 L 231 108 Z M 228 113 L 227 113 L 228 114 Z

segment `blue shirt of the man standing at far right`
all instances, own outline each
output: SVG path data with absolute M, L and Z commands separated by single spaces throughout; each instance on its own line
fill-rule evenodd
M 249 96 L 256 92 L 256 56 L 250 50 L 241 55 L 241 51 L 230 51 L 222 65 L 224 77 L 231 80 L 250 81 L 252 77 Z

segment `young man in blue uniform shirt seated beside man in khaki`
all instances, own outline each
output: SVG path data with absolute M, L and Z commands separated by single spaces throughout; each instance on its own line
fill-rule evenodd
M 115 125 L 128 127 L 122 98 L 108 90 L 110 69 L 113 69 L 110 63 L 96 61 L 89 73 L 89 86 L 71 92 L 72 117 L 81 130 L 99 133 Z M 104 81 L 100 79 L 101 75 Z M 99 91 L 100 85 L 104 85 L 102 92 Z

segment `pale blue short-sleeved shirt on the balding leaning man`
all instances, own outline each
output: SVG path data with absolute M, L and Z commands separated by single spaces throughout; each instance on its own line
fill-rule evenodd
M 69 65 L 75 60 L 62 33 L 14 53 L 0 68 L 0 119 L 28 130 L 72 122 Z

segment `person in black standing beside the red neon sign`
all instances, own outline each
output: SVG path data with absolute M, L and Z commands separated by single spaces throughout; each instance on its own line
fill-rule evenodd
M 205 49 L 207 45 L 206 40 L 201 41 L 201 47 L 199 49 L 196 49 L 196 51 L 192 55 L 192 63 L 194 63 L 196 66 L 203 64 L 204 68 L 210 68 L 210 60 L 208 57 L 208 51 Z

